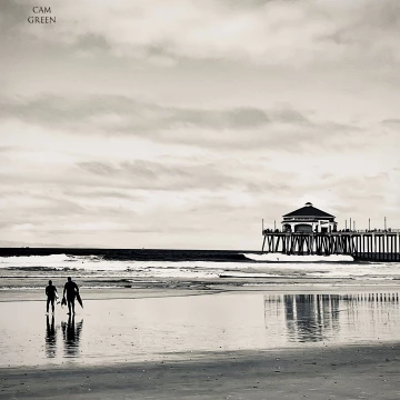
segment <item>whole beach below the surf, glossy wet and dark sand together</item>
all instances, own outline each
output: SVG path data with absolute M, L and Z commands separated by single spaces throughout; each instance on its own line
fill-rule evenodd
M 300 289 L 2 292 L 0 399 L 398 399 L 397 288 Z

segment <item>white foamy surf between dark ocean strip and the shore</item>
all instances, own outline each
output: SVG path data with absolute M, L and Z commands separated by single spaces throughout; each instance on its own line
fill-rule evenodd
M 284 280 L 311 279 L 400 279 L 398 262 L 351 262 L 350 256 L 287 256 L 281 253 L 243 253 L 243 261 L 119 261 L 97 256 L 0 257 L 0 280 L 20 277 L 66 277 L 73 271 L 79 278 L 236 279 L 261 278 Z M 257 262 L 249 262 L 249 260 Z

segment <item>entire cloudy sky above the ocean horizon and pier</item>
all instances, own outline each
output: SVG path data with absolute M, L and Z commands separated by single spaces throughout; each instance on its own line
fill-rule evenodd
M 1 0 L 0 32 L 0 246 L 400 228 L 398 0 Z

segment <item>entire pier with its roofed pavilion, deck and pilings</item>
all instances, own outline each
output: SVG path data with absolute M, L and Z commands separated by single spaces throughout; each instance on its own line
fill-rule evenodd
M 338 230 L 333 216 L 309 202 L 283 216 L 281 223 L 281 230 L 262 230 L 262 252 L 347 254 L 354 260 L 400 261 L 399 229 Z

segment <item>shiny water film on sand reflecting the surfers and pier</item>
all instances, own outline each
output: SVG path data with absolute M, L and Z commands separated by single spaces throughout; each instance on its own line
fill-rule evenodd
M 43 309 L 41 301 L 0 302 L 0 367 L 400 340 L 397 291 L 88 300 L 74 318 L 59 306 L 54 317 Z

